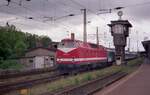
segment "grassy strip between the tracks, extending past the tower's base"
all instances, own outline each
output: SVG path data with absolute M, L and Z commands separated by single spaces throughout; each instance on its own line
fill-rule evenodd
M 111 66 L 105 69 L 96 70 L 96 71 L 92 71 L 92 72 L 88 72 L 84 74 L 79 74 L 73 77 L 61 79 L 53 83 L 50 83 L 48 86 L 48 90 L 50 92 L 57 91 L 65 87 L 79 85 L 84 82 L 88 82 L 88 81 L 91 81 L 100 77 L 104 77 L 104 76 L 113 74 L 118 71 L 131 73 L 141 63 L 142 63 L 142 59 L 138 58 L 138 59 L 129 61 L 127 66 Z

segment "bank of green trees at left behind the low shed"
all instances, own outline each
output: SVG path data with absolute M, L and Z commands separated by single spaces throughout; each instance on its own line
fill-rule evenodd
M 14 25 L 0 26 L 0 68 L 8 68 L 7 65 L 14 63 L 9 59 L 23 56 L 27 49 L 35 48 L 37 42 L 41 42 L 43 47 L 48 47 L 51 39 L 47 36 L 18 31 Z

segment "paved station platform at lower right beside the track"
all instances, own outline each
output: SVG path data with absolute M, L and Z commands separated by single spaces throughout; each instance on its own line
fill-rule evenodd
M 144 64 L 134 73 L 109 85 L 94 95 L 150 95 L 150 63 Z

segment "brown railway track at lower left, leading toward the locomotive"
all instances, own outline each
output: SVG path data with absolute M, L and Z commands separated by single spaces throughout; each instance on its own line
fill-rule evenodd
M 30 88 L 33 85 L 51 82 L 57 79 L 60 79 L 62 76 L 60 73 L 55 73 L 53 75 L 49 75 L 42 78 L 31 79 L 31 80 L 22 80 L 20 82 L 6 83 L 0 85 L 0 93 L 7 93 L 8 91 L 17 90 L 21 88 Z

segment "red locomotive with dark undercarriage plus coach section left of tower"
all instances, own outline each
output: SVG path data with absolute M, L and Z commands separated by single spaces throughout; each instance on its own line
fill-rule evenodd
M 75 40 L 72 34 L 71 38 L 61 40 L 56 57 L 58 69 L 67 73 L 112 65 L 115 61 L 115 50 Z

